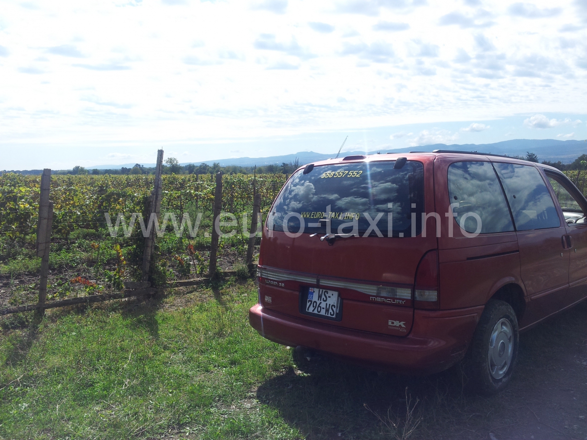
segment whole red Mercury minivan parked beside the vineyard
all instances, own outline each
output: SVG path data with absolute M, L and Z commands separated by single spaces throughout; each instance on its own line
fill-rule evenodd
M 399 373 L 465 355 L 485 393 L 518 333 L 587 297 L 587 200 L 560 171 L 438 150 L 306 165 L 264 224 L 261 336 Z

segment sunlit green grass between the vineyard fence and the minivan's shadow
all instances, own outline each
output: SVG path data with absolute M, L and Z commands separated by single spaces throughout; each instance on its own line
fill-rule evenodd
M 197 438 L 297 438 L 278 411 L 247 404 L 291 363 L 245 319 L 251 284 L 185 308 L 63 310 L 0 343 L 3 438 L 131 438 L 189 427 Z

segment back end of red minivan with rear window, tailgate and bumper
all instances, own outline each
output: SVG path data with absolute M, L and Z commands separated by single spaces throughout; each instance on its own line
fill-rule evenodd
M 251 325 L 395 371 L 460 360 L 483 307 L 440 310 L 437 236 L 422 222 L 436 211 L 435 157 L 350 156 L 292 174 L 263 228 Z

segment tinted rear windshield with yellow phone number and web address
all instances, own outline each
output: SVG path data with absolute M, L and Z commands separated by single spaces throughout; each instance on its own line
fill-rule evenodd
M 274 231 L 409 237 L 421 232 L 424 167 L 407 161 L 321 165 L 292 175 L 268 219 Z M 414 215 L 412 215 L 414 213 Z M 415 218 L 412 225 L 412 218 Z M 322 222 L 320 222 L 322 220 Z

